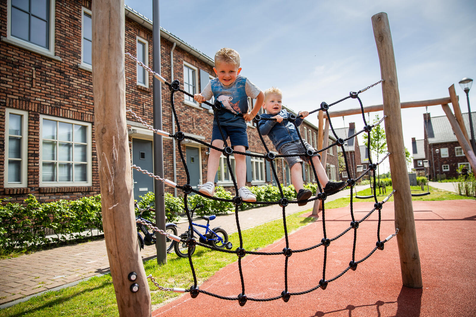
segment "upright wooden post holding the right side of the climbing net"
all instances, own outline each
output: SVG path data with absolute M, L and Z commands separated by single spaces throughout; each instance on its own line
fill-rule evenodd
M 396 190 L 394 194 L 395 228 L 400 230 L 397 234 L 397 242 L 402 281 L 406 287 L 421 288 L 423 282 L 403 143 L 397 67 L 387 13 L 380 12 L 374 15 L 372 26 L 380 60 L 381 76 L 385 80 L 382 83 L 383 110 L 387 115 L 385 133 L 387 134 L 388 152 L 391 153 L 389 163 L 392 186 Z

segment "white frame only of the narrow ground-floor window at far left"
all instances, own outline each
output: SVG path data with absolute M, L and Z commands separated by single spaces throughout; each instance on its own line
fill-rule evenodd
M 10 114 L 21 115 L 21 178 L 20 183 L 8 183 L 8 141 L 9 141 L 9 122 Z M 5 109 L 5 168 L 3 187 L 27 187 L 28 182 L 28 111 L 6 108 Z

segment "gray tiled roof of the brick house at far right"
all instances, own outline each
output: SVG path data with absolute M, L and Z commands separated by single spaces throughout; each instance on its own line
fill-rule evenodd
M 476 123 L 476 112 L 472 112 L 471 115 L 473 122 Z M 469 132 L 469 116 L 467 112 L 463 114 L 463 121 L 466 126 L 466 134 L 471 138 L 471 133 Z M 423 120 L 423 127 L 425 130 L 427 128 L 428 142 L 430 144 L 458 141 L 446 115 L 430 117 L 428 127 L 426 127 L 425 120 Z

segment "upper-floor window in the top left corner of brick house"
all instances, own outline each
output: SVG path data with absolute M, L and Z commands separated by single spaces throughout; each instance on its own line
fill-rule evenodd
M 2 40 L 54 56 L 55 0 L 7 0 L 7 38 Z

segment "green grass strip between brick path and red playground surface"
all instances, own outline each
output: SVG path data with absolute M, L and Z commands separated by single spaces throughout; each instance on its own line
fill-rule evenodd
M 387 194 L 377 195 L 377 200 L 381 202 L 391 191 L 388 186 Z M 424 192 L 419 186 L 412 186 L 412 192 Z M 441 201 L 454 199 L 468 199 L 455 193 L 446 192 L 437 188 L 430 187 L 430 195 L 422 197 L 412 197 L 414 201 Z M 370 189 L 358 193 L 361 196 L 370 195 Z M 393 200 L 393 197 L 390 198 Z M 354 199 L 355 202 L 373 202 L 372 199 L 362 200 Z M 339 198 L 325 204 L 327 208 L 339 208 L 349 205 L 349 197 Z M 292 232 L 299 227 L 316 221 L 315 218 L 303 218 L 300 215 L 309 212 L 301 211 L 286 218 L 288 232 Z M 266 233 L 266 234 L 263 234 Z M 246 250 L 256 250 L 268 246 L 284 236 L 282 220 L 271 221 L 257 227 L 242 231 L 244 248 Z M 238 243 L 238 233 L 229 236 L 230 241 L 235 247 Z M 178 258 L 175 253 L 169 253 L 168 263 L 159 266 L 156 259 L 144 262 L 147 274 L 152 274 L 159 285 L 164 287 L 188 288 L 193 284 L 193 278 L 188 264 L 188 258 Z M 193 255 L 193 263 L 197 274 L 198 284 L 212 276 L 219 269 L 236 261 L 234 254 L 214 252 L 205 248 L 197 247 Z M 155 309 L 160 303 L 181 294 L 173 292 L 159 291 L 149 281 L 151 289 L 152 309 Z M 185 295 L 188 296 L 188 295 Z M 110 275 L 94 277 L 76 286 L 64 288 L 57 292 L 48 292 L 41 296 L 31 298 L 30 300 L 0 310 L 0 317 L 4 316 L 119 316 L 116 297 L 112 279 Z

